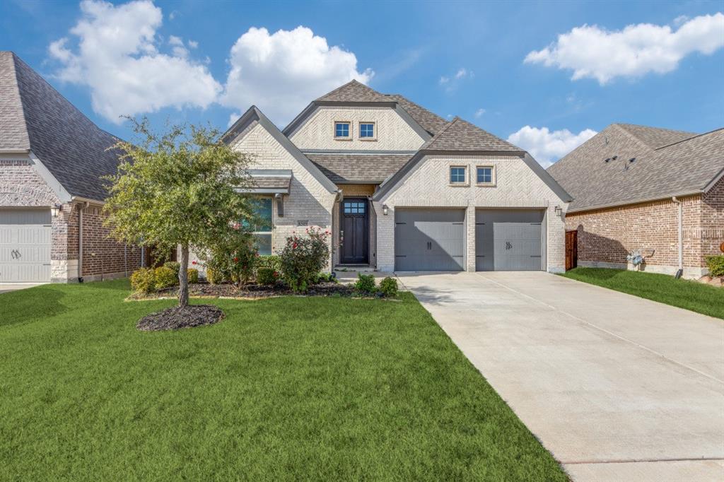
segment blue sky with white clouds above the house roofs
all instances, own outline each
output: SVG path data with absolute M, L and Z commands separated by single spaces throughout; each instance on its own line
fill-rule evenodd
M 612 122 L 724 127 L 724 10 L 683 2 L 0 0 L 15 51 L 94 122 L 284 125 L 355 77 L 544 165 Z M 302 28 L 300 28 L 302 27 Z

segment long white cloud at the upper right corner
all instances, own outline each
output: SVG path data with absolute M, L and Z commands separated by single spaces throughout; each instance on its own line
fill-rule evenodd
M 524 62 L 572 69 L 573 80 L 593 78 L 604 85 L 615 77 L 671 72 L 689 54 L 709 55 L 724 46 L 721 12 L 691 20 L 677 17 L 674 24 L 680 24 L 675 31 L 669 25 L 648 23 L 614 31 L 584 25 L 558 35 L 542 50 L 531 51 Z

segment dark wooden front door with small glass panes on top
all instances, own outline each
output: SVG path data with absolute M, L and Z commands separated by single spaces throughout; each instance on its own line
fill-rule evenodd
M 369 203 L 366 199 L 342 200 L 340 245 L 343 264 L 369 263 Z

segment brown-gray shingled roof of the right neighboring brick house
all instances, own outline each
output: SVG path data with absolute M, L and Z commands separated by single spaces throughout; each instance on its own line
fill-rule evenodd
M 611 124 L 548 168 L 573 196 L 569 212 L 701 193 L 724 169 L 724 129 L 685 138 L 633 127 Z M 651 147 L 672 138 L 683 140 Z

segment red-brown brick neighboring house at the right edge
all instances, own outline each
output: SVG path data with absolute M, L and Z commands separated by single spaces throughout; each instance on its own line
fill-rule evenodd
M 577 231 L 578 266 L 634 269 L 626 255 L 639 251 L 636 269 L 692 278 L 721 253 L 724 129 L 611 124 L 548 172 L 573 195 L 565 224 Z

